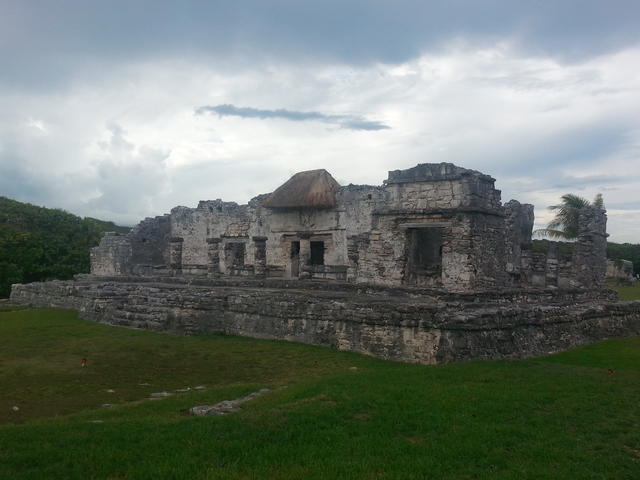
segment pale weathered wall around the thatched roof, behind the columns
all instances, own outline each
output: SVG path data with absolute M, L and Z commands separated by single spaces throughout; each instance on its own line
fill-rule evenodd
M 264 196 L 263 196 L 264 197 Z M 230 243 L 245 243 L 244 263 L 256 261 L 254 237 L 264 238 L 267 271 L 291 275 L 289 267 L 292 241 L 308 244 L 325 242 L 325 265 L 308 273 L 314 278 L 332 278 L 336 272 L 346 278 L 350 265 L 348 235 L 371 230 L 371 211 L 382 202 L 379 187 L 343 187 L 338 205 L 322 210 L 271 210 L 261 207 L 260 199 L 249 205 L 217 201 L 200 202 L 197 209 L 176 207 L 171 212 L 171 238 L 182 243 L 182 273 L 207 272 L 207 239 L 220 238 L 219 272 L 229 274 L 225 249 Z M 304 253 L 304 252 L 303 252 Z M 311 271 L 312 270 L 312 271 Z M 250 272 L 249 273 L 255 273 Z M 352 270 L 352 278 L 355 271 Z

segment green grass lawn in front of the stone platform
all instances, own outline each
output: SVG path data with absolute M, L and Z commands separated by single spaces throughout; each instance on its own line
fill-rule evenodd
M 421 366 L 23 310 L 0 313 L 0 339 L 2 479 L 640 478 L 638 337 Z

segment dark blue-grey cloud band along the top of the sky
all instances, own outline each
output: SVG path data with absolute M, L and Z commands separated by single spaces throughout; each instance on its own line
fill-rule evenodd
M 637 44 L 639 16 L 637 0 L 0 0 L 0 82 L 51 88 L 104 62 L 166 57 L 397 63 L 451 39 L 584 59 Z

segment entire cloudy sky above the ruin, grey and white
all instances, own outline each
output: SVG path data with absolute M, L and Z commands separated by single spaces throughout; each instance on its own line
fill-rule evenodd
M 453 162 L 640 242 L 637 0 L 0 0 L 0 195 L 134 224 Z

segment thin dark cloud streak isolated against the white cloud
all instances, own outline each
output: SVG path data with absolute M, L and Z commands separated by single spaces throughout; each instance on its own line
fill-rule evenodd
M 285 120 L 292 120 L 294 122 L 314 120 L 317 122 L 337 125 L 340 128 L 346 128 L 349 130 L 384 130 L 390 128 L 383 123 L 367 120 L 366 118 L 358 115 L 327 115 L 320 112 L 297 112 L 294 110 L 285 110 L 284 108 L 263 110 L 260 108 L 236 107 L 235 105 L 224 104 L 213 107 L 199 107 L 196 109 L 195 113 L 196 115 L 217 113 L 221 117 L 233 116 L 242 118 L 259 118 L 261 120 L 282 118 Z

